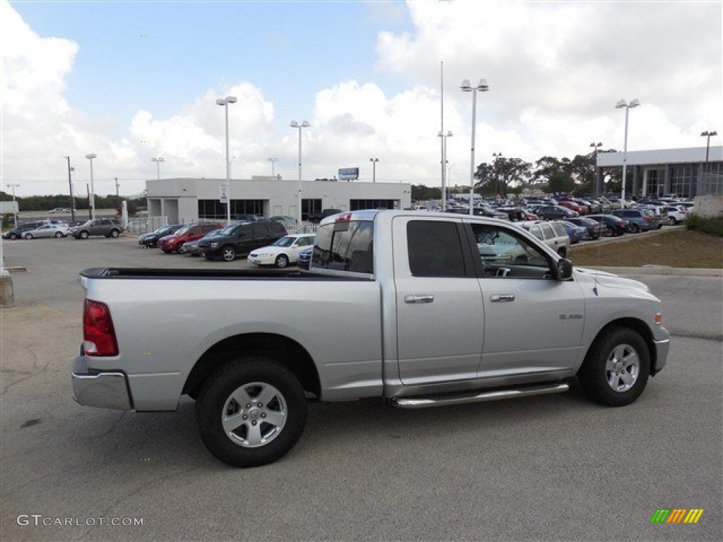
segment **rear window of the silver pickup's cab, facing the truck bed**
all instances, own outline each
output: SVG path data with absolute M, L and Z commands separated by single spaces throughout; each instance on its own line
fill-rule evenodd
M 317 231 L 312 267 L 357 273 L 374 272 L 374 223 L 337 221 Z

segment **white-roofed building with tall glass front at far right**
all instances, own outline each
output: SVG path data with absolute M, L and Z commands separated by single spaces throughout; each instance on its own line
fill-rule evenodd
M 598 171 L 622 167 L 624 157 L 623 152 L 599 152 Z M 677 194 L 692 198 L 723 194 L 723 147 L 628 151 L 625 161 L 625 189 L 630 195 Z M 602 184 L 595 192 L 602 192 Z

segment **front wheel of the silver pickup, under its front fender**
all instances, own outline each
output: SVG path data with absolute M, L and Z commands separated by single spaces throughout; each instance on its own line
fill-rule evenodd
M 588 397 L 608 406 L 633 403 L 645 390 L 650 353 L 643 337 L 626 327 L 610 327 L 596 338 L 578 371 Z

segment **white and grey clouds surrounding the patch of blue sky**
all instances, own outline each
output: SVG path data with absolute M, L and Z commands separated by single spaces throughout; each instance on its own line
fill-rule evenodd
M 406 9 L 411 30 L 380 32 L 375 64 L 406 90 L 354 79 L 315 89 L 312 117 L 297 119 L 312 124 L 303 132 L 305 177 L 359 166 L 370 180 L 375 157 L 378 181 L 439 184 L 440 61 L 453 182 L 469 181 L 471 96 L 458 88 L 466 78 L 490 85 L 477 99 L 477 163 L 492 152 L 572 158 L 590 142 L 620 149 L 620 98 L 643 104 L 630 112 L 631 150 L 697 147 L 702 130 L 722 128 L 721 4 L 414 0 Z M 379 13 L 373 7 L 370 19 Z M 64 192 L 64 155 L 84 183 L 87 152 L 98 154 L 100 193 L 114 191 L 116 176 L 124 191 L 140 192 L 155 176 L 152 156 L 166 160 L 163 176 L 221 177 L 225 127 L 215 99 L 225 95 L 238 98 L 228 106 L 234 176 L 270 173 L 270 157 L 276 173 L 296 176 L 298 134 L 275 118 L 264 82 L 209 88 L 166 116 L 146 106 L 127 119 L 95 119 L 65 97 L 78 43 L 39 36 L 7 1 L 0 21 L 2 171 L 23 180 L 19 193 Z

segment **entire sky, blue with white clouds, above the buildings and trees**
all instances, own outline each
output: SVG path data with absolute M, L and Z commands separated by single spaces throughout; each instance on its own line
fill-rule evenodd
M 296 178 L 359 167 L 369 182 L 440 186 L 441 105 L 450 184 L 501 152 L 534 162 L 623 147 L 701 147 L 723 134 L 721 1 L 32 2 L 0 0 L 3 185 L 64 193 L 64 156 L 99 194 L 155 176 Z M 440 69 L 443 63 L 444 80 Z M 442 98 L 443 95 L 443 98 Z M 711 139 L 711 145 L 720 145 Z M 4 186 L 2 186 L 4 188 Z M 85 189 L 84 186 L 82 186 Z

